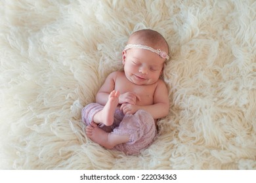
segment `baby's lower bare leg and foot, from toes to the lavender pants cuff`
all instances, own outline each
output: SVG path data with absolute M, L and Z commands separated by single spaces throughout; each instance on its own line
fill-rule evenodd
M 114 133 L 107 133 L 100 129 L 94 122 L 86 127 L 86 135 L 93 142 L 104 146 L 105 148 L 112 149 L 117 144 L 129 142 L 130 135 L 116 135 Z

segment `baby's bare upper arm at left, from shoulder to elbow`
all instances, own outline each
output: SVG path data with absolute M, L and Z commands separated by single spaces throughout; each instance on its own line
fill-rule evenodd
M 104 84 L 101 86 L 100 90 L 96 94 L 96 103 L 100 105 L 106 105 L 108 101 L 108 95 L 114 90 L 115 88 L 115 81 L 116 81 L 117 72 L 110 73 L 106 78 Z

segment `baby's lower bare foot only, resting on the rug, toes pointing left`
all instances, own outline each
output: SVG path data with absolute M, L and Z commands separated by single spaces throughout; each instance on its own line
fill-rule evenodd
M 114 148 L 114 144 L 108 141 L 109 134 L 110 133 L 100 129 L 95 122 L 92 122 L 91 125 L 86 127 L 86 135 L 91 139 L 91 141 L 100 144 L 100 146 L 105 148 L 112 149 Z

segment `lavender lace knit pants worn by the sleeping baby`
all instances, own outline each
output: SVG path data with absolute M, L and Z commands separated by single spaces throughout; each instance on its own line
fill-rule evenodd
M 98 103 L 90 103 L 82 109 L 82 120 L 86 125 L 93 122 L 93 116 L 102 110 L 103 106 Z M 110 126 L 104 124 L 98 125 L 108 133 L 116 135 L 130 135 L 127 143 L 117 144 L 114 150 L 124 152 L 127 155 L 139 154 L 140 150 L 147 148 L 152 144 L 156 137 L 156 125 L 151 114 L 145 110 L 138 110 L 135 114 L 126 114 L 116 109 L 114 114 L 114 123 Z

